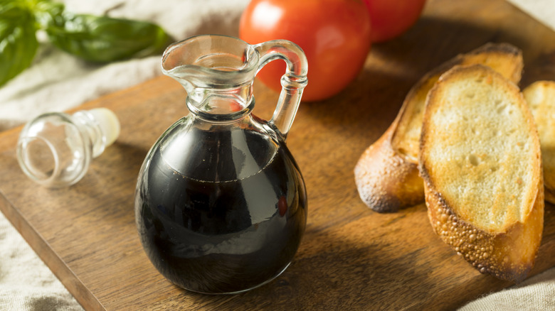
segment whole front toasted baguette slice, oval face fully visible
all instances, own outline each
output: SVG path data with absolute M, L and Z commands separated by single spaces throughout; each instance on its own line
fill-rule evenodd
M 544 224 L 539 137 L 516 85 L 482 65 L 430 90 L 420 171 L 436 234 L 482 273 L 519 283 Z

